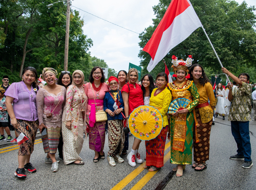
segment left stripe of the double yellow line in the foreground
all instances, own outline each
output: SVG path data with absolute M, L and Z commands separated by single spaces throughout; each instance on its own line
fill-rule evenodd
M 168 142 L 165 145 L 164 151 L 167 150 L 167 148 L 170 147 L 170 142 Z M 123 178 L 119 183 L 117 183 L 111 190 L 117 190 L 117 189 L 123 189 L 127 184 L 129 184 L 136 176 L 138 176 L 143 170 L 145 166 L 145 162 L 140 165 L 138 168 L 136 168 L 134 171 L 132 171 L 129 175 L 127 175 L 125 178 Z

